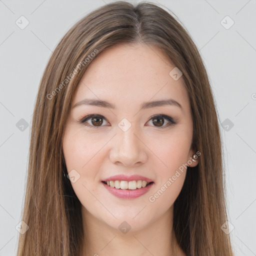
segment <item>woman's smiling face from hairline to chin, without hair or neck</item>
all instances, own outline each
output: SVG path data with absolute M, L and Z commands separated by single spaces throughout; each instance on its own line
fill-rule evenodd
M 172 214 L 186 174 L 182 164 L 195 153 L 189 99 L 174 67 L 159 48 L 142 44 L 115 45 L 89 64 L 62 141 L 83 217 L 134 231 Z M 158 100 L 172 101 L 150 103 Z

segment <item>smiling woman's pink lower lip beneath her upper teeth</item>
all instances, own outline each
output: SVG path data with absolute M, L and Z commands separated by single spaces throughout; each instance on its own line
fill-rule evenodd
M 142 194 L 146 193 L 153 185 L 153 183 L 136 189 L 117 189 L 115 187 L 111 187 L 103 182 L 101 182 L 103 186 L 114 196 L 122 199 L 132 199 L 141 196 Z

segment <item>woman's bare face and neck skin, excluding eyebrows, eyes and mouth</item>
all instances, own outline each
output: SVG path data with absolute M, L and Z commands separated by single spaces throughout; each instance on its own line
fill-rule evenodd
M 63 134 L 67 171 L 75 169 L 80 175 L 71 184 L 82 204 L 83 256 L 185 255 L 173 234 L 172 219 L 186 168 L 171 185 L 166 182 L 195 152 L 188 94 L 182 76 L 174 80 L 169 75 L 174 67 L 155 46 L 119 44 L 97 55 L 78 84 L 72 106 L 85 98 L 115 105 L 115 109 L 85 104 L 71 108 Z M 181 107 L 140 110 L 142 102 L 170 98 Z M 103 116 L 99 126 L 93 117 L 79 122 L 89 114 Z M 176 123 L 168 125 L 170 121 L 160 116 L 162 125 L 157 126 L 157 118 L 151 116 L 160 114 Z M 125 125 L 130 123 L 126 131 L 118 126 L 123 118 L 128 121 Z M 116 174 L 138 174 L 154 183 L 139 197 L 118 198 L 101 182 Z M 155 197 L 164 184 L 164 191 Z M 126 233 L 119 229 L 123 221 L 130 227 Z

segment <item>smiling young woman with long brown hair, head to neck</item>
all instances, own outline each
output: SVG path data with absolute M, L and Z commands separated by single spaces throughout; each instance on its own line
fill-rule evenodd
M 233 255 L 209 80 L 159 6 L 106 4 L 39 86 L 17 255 Z

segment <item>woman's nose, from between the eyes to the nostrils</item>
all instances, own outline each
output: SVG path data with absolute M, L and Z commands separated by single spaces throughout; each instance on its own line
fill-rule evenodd
M 117 134 L 112 139 L 109 159 L 113 163 L 124 166 L 143 164 L 147 160 L 146 145 L 139 132 L 134 129 L 135 125 L 123 131 L 117 128 Z

